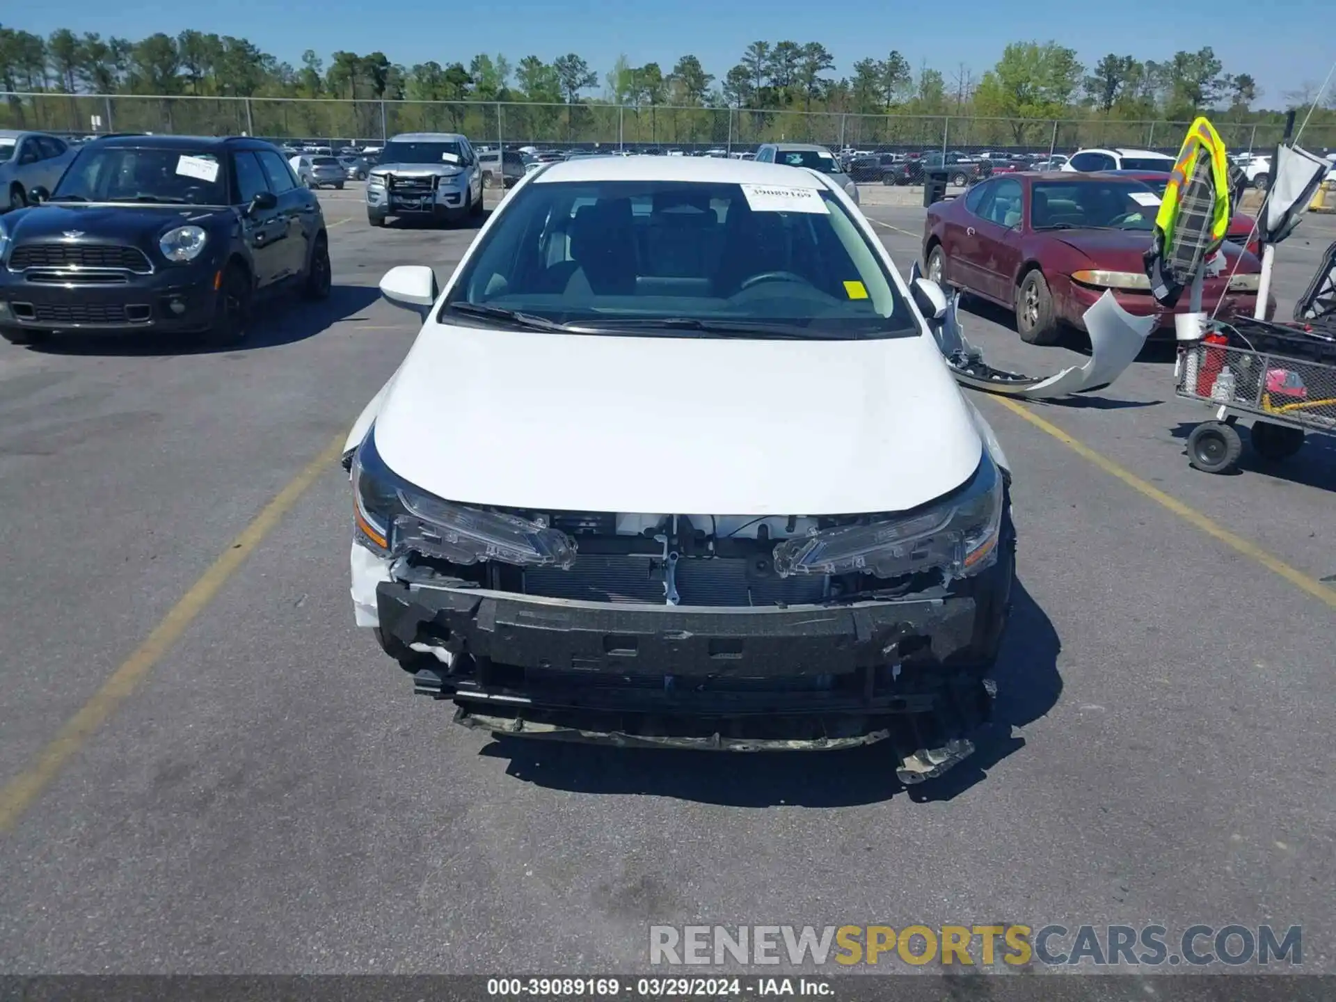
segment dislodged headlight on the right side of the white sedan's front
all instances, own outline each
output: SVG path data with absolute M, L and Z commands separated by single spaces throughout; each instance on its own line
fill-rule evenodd
M 900 577 L 941 570 L 947 580 L 977 574 L 997 561 L 1002 528 L 1002 473 L 983 450 L 959 490 L 914 512 L 874 516 L 814 529 L 775 546 L 775 570 L 790 574 Z

